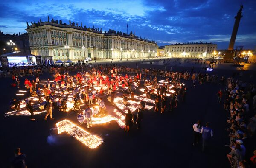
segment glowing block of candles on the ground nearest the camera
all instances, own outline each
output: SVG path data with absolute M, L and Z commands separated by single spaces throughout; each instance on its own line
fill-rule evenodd
M 85 131 L 79 126 L 76 126 L 69 120 L 62 120 L 56 123 L 56 126 L 58 129 L 58 134 L 61 134 L 62 132 L 67 132 L 91 149 L 97 148 L 103 143 L 103 141 L 99 137 L 90 134 L 89 132 Z

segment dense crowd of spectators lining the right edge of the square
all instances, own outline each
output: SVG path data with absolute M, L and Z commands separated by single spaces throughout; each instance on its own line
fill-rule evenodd
M 229 77 L 225 91 L 218 92 L 218 103 L 222 101 L 230 124 L 226 130 L 230 137 L 227 158 L 231 167 L 256 166 L 256 86 Z

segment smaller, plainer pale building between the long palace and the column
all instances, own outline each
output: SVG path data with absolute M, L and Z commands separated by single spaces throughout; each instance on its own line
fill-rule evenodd
M 166 45 L 164 54 L 174 58 L 213 58 L 217 55 L 217 45 L 212 43 L 176 43 Z

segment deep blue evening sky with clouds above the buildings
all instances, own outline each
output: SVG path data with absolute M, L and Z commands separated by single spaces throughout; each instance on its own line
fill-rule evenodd
M 244 5 L 236 46 L 256 47 L 256 0 L 2 0 L 0 29 L 26 32 L 26 21 L 80 22 L 103 30 L 133 31 L 158 45 L 213 42 L 226 49 L 239 5 Z

